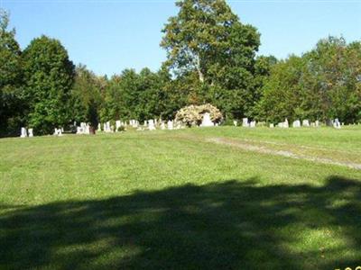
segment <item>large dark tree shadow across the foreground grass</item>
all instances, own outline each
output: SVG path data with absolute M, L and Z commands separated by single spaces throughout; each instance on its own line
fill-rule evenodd
M 335 269 L 361 264 L 361 184 L 246 182 L 11 208 L 0 268 Z M 359 260 L 357 261 L 357 259 Z

